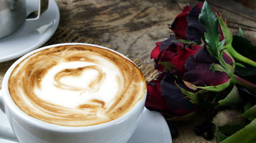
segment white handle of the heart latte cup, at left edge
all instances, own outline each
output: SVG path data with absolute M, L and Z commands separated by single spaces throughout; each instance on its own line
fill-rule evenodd
M 5 105 L 3 101 L 2 90 L 0 90 L 0 108 L 5 113 Z M 0 126 L 0 138 L 19 142 L 16 135 L 14 134 L 12 129 L 9 127 Z

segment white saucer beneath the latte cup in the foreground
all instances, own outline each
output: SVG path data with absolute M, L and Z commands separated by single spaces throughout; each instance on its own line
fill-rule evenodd
M 5 114 L 0 110 L 0 126 L 10 127 Z M 0 138 L 1 143 L 15 143 Z M 172 143 L 170 130 L 163 116 L 144 108 L 140 123 L 127 143 Z M 17 143 L 17 142 L 16 142 Z

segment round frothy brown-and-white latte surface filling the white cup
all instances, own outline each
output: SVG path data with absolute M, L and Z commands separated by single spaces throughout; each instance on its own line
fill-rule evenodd
M 141 71 L 108 49 L 66 45 L 38 51 L 9 78 L 16 105 L 39 120 L 89 126 L 117 119 L 142 99 Z

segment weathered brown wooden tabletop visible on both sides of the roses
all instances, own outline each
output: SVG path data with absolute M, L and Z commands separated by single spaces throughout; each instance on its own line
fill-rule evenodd
M 151 50 L 172 31 L 168 24 L 185 5 L 202 1 L 189 0 L 57 0 L 60 24 L 72 28 L 81 36 L 91 37 L 114 49 L 150 63 Z M 256 39 L 256 12 L 232 0 L 208 1 L 227 19 L 233 33 L 239 26 L 254 44 Z

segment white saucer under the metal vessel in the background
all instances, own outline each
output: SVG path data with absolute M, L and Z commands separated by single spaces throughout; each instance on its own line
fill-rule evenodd
M 27 13 L 37 10 L 38 0 L 26 0 Z M 54 0 L 39 19 L 25 21 L 12 35 L 0 39 L 0 62 L 18 58 L 44 44 L 58 27 L 59 8 Z

